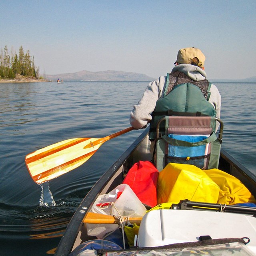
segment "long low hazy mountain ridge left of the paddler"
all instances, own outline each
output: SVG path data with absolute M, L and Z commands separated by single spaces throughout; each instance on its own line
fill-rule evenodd
M 145 74 L 115 70 L 98 72 L 83 70 L 75 73 L 45 75 L 45 77 L 47 80 L 53 81 L 58 78 L 64 81 L 152 81 L 155 79 Z

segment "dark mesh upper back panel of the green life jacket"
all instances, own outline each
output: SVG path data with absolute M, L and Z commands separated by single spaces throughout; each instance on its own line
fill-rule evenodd
M 204 98 L 207 99 L 208 97 L 207 89 L 209 86 L 208 80 L 205 79 L 202 81 L 194 81 L 188 78 L 188 76 L 186 76 L 184 73 L 180 71 L 171 72 L 169 74 L 169 84 L 166 91 L 166 95 L 168 95 L 178 84 L 186 84 L 186 83 L 190 83 L 198 86 L 198 88 L 200 88 L 202 94 L 204 95 Z

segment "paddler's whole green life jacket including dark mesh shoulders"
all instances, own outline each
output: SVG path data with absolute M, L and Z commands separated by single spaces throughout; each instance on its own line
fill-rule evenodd
M 214 106 L 208 102 L 211 83 L 208 80 L 194 81 L 184 73 L 167 74 L 164 92 L 156 102 L 150 122 L 149 139 L 156 138 L 157 122 L 164 116 L 216 116 Z M 164 134 L 165 128 L 160 127 Z

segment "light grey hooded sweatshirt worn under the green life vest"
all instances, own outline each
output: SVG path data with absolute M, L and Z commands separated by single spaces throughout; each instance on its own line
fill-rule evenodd
M 202 81 L 206 79 L 206 72 L 198 66 L 190 64 L 180 64 L 172 69 L 172 72 L 180 71 L 194 81 Z M 133 106 L 130 115 L 130 124 L 135 129 L 140 129 L 152 120 L 151 113 L 156 107 L 156 101 L 160 99 L 164 92 L 164 85 L 166 84 L 166 76 L 160 76 L 157 80 L 150 82 L 146 88 L 142 98 L 137 105 Z M 168 85 L 166 85 L 168 86 Z M 209 102 L 216 110 L 216 117 L 220 118 L 221 97 L 217 87 L 212 84 L 210 88 Z M 216 130 L 218 130 L 218 122 Z

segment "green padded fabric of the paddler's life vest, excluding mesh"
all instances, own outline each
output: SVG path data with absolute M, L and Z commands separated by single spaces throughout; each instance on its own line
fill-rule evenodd
M 153 141 L 156 138 L 157 122 L 164 116 L 216 116 L 216 110 L 208 102 L 210 87 L 211 83 L 208 85 L 207 99 L 200 88 L 191 83 L 178 84 L 167 95 L 167 90 L 165 90 L 162 98 L 157 100 L 156 107 L 152 112 L 149 139 Z M 164 134 L 164 127 L 160 127 L 160 132 Z

